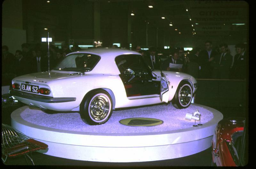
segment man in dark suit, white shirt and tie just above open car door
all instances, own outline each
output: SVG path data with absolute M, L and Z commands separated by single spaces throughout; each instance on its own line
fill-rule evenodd
M 153 70 L 160 70 L 158 57 L 156 56 L 156 48 L 150 47 L 149 48 L 149 56 L 146 55 L 144 58 L 145 62 L 153 69 Z

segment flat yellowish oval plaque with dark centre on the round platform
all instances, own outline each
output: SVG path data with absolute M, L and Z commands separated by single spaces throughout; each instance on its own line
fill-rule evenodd
M 123 119 L 123 120 L 120 120 L 119 122 L 126 126 L 156 126 L 164 123 L 162 120 L 159 120 L 159 119 L 143 118 L 143 117 Z

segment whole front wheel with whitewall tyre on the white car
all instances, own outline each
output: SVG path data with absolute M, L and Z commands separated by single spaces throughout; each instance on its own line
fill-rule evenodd
M 173 106 L 177 109 L 187 108 L 193 97 L 193 89 L 187 81 L 180 82 L 174 96 Z

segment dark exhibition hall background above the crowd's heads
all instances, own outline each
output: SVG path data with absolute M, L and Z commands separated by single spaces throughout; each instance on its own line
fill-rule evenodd
M 216 47 L 221 42 L 235 45 L 249 39 L 249 4 L 245 1 L 5 0 L 2 9 L 2 28 L 25 31 L 22 41 L 28 43 L 41 42 L 48 32 L 54 42 L 69 45 L 70 40 L 100 40 L 103 47 L 117 42 L 122 47 L 132 43 L 204 48 L 206 40 Z M 3 33 L 12 34 L 10 30 Z M 6 38 L 2 43 L 10 44 Z

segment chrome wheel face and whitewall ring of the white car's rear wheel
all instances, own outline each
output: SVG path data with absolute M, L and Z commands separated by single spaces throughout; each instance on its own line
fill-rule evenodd
M 104 121 L 110 112 L 110 104 L 108 96 L 103 93 L 93 96 L 88 107 L 92 120 Z

